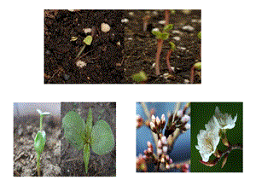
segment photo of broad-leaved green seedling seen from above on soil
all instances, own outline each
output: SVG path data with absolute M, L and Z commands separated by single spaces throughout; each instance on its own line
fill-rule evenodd
M 61 173 L 116 176 L 115 102 L 61 102 Z

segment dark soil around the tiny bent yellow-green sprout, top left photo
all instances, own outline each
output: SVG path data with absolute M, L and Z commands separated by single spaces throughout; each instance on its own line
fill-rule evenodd
M 45 84 L 118 84 L 124 79 L 122 49 L 124 26 L 119 10 L 45 10 L 44 83 Z M 101 24 L 111 26 L 101 31 Z M 78 59 L 83 47 L 84 28 L 94 28 L 93 41 Z M 78 38 L 71 41 L 72 37 Z M 76 62 L 84 61 L 85 67 Z

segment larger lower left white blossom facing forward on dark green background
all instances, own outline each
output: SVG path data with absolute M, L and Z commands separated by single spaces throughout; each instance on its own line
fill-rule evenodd
M 197 135 L 198 145 L 195 148 L 199 150 L 203 161 L 207 162 L 215 152 L 219 139 L 218 129 L 207 129 L 199 132 Z

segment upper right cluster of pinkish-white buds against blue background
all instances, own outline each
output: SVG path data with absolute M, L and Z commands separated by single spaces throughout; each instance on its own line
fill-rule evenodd
M 165 136 L 169 137 L 177 128 L 181 131 L 189 130 L 189 120 L 189 114 L 184 113 L 183 109 L 178 110 L 177 113 L 172 113 L 168 119 L 168 124 L 166 125 Z

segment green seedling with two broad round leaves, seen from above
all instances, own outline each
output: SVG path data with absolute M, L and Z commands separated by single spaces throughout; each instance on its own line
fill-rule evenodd
M 67 141 L 78 150 L 83 149 L 84 169 L 88 172 L 90 147 L 98 155 L 108 154 L 114 147 L 113 133 L 108 123 L 102 119 L 93 125 L 92 112 L 89 113 L 86 123 L 74 111 L 68 112 L 62 119 L 64 136 Z

